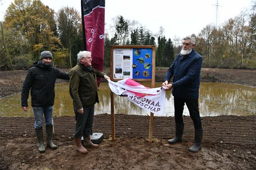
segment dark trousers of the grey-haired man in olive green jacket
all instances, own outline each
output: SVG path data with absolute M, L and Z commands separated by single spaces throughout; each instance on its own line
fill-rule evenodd
M 81 138 L 83 135 L 87 136 L 90 134 L 94 118 L 94 106 L 83 107 L 84 113 L 80 114 L 77 109 L 74 108 L 76 114 L 76 131 L 75 138 Z

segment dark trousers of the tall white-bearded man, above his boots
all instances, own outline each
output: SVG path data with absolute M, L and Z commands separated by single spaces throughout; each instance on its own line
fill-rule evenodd
M 181 99 L 174 97 L 174 116 L 175 123 L 183 122 L 183 110 L 185 103 L 190 112 L 190 118 L 193 120 L 194 129 L 202 129 L 202 122 L 199 114 L 198 99 Z

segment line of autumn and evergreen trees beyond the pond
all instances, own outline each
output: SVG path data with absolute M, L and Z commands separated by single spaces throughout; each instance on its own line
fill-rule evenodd
M 196 51 L 204 58 L 203 67 L 256 68 L 256 1 L 221 26 L 205 26 L 196 39 Z M 111 45 L 156 45 L 156 67 L 169 67 L 180 52 L 180 37 L 165 37 L 165 30 L 152 33 L 138 21 L 123 16 L 105 26 L 104 67 L 110 67 Z M 48 50 L 60 68 L 76 65 L 83 49 L 80 13 L 71 7 L 57 12 L 40 0 L 14 0 L 0 22 L 0 67 L 24 69 Z

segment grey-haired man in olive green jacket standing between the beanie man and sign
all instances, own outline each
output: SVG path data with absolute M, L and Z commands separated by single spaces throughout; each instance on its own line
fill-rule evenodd
M 74 112 L 76 114 L 75 141 L 77 152 L 86 154 L 85 147 L 98 148 L 99 145 L 91 142 L 90 130 L 94 117 L 94 105 L 99 103 L 97 77 L 110 78 L 91 66 L 91 53 L 80 51 L 77 54 L 77 65 L 71 69 L 69 87 L 73 99 Z M 84 146 L 81 137 L 84 138 Z

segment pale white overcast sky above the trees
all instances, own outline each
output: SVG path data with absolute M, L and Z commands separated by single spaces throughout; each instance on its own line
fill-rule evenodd
M 57 12 L 64 6 L 74 7 L 81 13 L 81 0 L 41 0 Z M 254 0 L 255 1 L 255 0 Z M 2 0 L 0 20 L 14 0 Z M 216 23 L 217 0 L 105 0 L 105 23 L 122 15 L 137 20 L 152 33 L 160 26 L 166 38 L 198 34 L 209 23 Z M 251 9 L 252 0 L 218 0 L 218 25 L 234 18 L 242 10 Z

